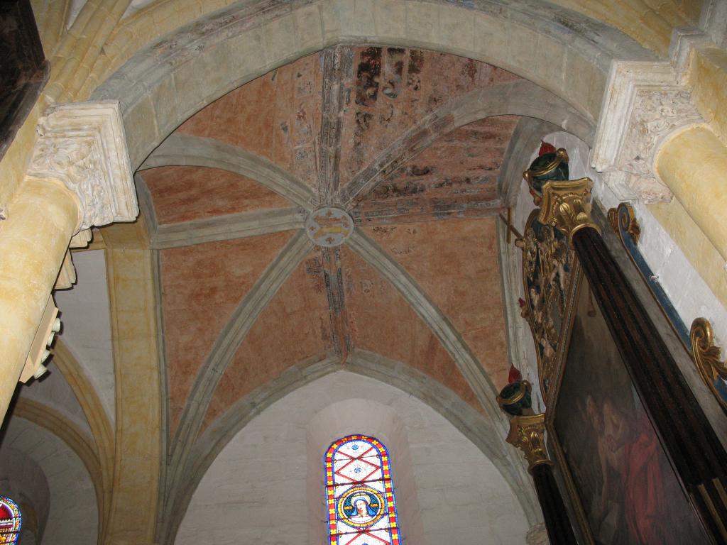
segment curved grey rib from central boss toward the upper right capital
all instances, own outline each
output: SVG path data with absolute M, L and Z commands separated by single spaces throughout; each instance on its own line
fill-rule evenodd
M 565 100 L 529 81 L 475 89 L 447 102 L 398 137 L 342 187 L 338 201 L 350 208 L 439 137 L 473 121 L 507 115 L 539 118 L 563 127 L 586 142 L 593 140 L 590 121 Z

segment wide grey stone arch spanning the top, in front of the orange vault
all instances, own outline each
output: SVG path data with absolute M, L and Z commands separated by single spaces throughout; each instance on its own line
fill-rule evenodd
M 619 31 L 533 0 L 260 4 L 238 3 L 180 28 L 95 90 L 97 100 L 121 102 L 134 169 L 204 105 L 334 44 L 416 47 L 489 62 L 553 92 L 590 121 L 601 110 L 611 60 L 654 60 Z

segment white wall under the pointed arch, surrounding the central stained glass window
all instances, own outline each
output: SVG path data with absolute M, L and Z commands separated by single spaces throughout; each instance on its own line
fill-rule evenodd
M 347 371 L 297 389 L 238 432 L 201 480 L 175 543 L 323 543 L 324 451 L 351 433 L 390 450 L 403 543 L 524 543 L 518 500 L 475 445 L 428 405 Z

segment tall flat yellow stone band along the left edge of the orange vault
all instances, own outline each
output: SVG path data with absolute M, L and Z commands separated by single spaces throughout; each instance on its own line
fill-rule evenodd
M 148 545 L 164 459 L 153 254 L 141 219 L 103 229 L 103 239 L 116 377 L 116 461 L 104 545 Z

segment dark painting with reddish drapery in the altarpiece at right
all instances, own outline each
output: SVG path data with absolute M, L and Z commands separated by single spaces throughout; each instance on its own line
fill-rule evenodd
M 554 427 L 596 544 L 707 542 L 586 280 Z

